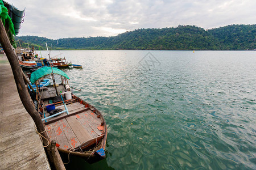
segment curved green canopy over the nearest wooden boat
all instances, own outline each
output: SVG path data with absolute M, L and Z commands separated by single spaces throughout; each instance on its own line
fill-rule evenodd
M 31 73 L 30 82 L 32 84 L 34 84 L 37 80 L 39 80 L 43 76 L 51 74 L 52 71 L 53 71 L 53 74 L 59 74 L 61 76 L 64 76 L 65 78 L 69 79 L 68 75 L 65 74 L 63 71 L 61 71 L 60 69 L 56 69 L 54 67 L 52 67 L 52 68 L 51 67 L 41 67 L 40 69 Z

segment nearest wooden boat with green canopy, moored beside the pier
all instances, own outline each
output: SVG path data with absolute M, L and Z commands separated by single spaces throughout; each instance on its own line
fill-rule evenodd
M 61 75 L 61 83 L 54 83 L 53 78 L 53 85 L 37 88 L 39 113 L 49 139 L 55 140 L 57 149 L 64 154 L 80 156 L 89 163 L 104 159 L 108 134 L 104 117 L 71 93 L 68 75 L 53 67 L 42 67 L 31 73 L 31 83 L 52 73 Z M 65 97 L 59 95 L 61 92 Z

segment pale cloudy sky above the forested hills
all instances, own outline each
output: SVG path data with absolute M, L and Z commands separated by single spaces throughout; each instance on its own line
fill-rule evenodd
M 18 36 L 115 36 L 138 28 L 255 24 L 255 0 L 6 0 L 25 10 Z

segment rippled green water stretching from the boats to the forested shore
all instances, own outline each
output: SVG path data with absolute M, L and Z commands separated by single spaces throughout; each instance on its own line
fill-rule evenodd
M 64 71 L 108 124 L 107 158 L 67 168 L 256 169 L 255 52 L 61 53 L 83 66 Z

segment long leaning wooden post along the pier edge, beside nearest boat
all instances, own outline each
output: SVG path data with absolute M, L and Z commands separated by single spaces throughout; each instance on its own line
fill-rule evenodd
M 36 128 L 38 129 L 39 133 L 42 133 L 44 131 L 44 125 L 43 122 L 38 114 L 38 112 L 35 110 L 34 105 L 30 102 L 30 95 L 28 94 L 27 88 L 24 83 L 22 70 L 19 66 L 18 58 L 16 57 L 16 54 L 14 53 L 13 49 L 11 48 L 10 40 L 6 34 L 5 28 L 3 27 L 2 20 L 0 19 L 0 42 L 3 46 L 3 50 L 5 50 L 6 56 L 10 62 L 11 69 L 13 70 L 13 75 L 16 83 L 16 87 L 19 93 L 20 100 L 22 101 L 22 104 L 24 105 L 24 108 L 30 114 L 32 119 L 35 122 Z M 47 133 L 44 131 L 42 133 L 44 137 L 48 139 Z M 44 146 L 48 145 L 48 141 L 46 139 L 43 139 Z M 50 146 L 48 146 L 50 147 Z M 51 152 L 48 152 L 49 155 L 51 155 Z M 53 157 L 60 156 L 59 152 L 56 152 L 55 155 L 52 155 Z M 56 169 L 65 169 L 63 162 L 55 162 L 55 160 L 58 160 L 58 158 L 51 160 L 53 164 L 55 165 Z

